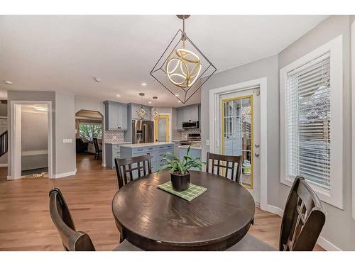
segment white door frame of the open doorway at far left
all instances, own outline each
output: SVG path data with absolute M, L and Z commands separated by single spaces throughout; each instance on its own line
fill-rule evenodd
M 11 108 L 11 174 L 9 180 L 21 178 L 21 105 L 48 105 L 48 177 L 53 178 L 52 101 L 10 101 Z M 20 119 L 18 119 L 20 118 Z

